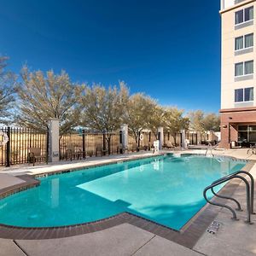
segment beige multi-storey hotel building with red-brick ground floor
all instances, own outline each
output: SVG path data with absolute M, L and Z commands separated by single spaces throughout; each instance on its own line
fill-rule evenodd
M 221 144 L 256 143 L 256 0 L 221 0 Z

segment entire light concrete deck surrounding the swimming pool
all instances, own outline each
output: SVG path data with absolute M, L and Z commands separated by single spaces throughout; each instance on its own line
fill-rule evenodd
M 191 152 L 204 154 L 206 150 L 175 151 L 174 153 Z M 247 149 L 243 148 L 214 150 L 213 154 L 256 160 L 256 155 L 247 154 Z M 28 175 L 61 172 L 72 168 L 109 164 L 119 160 L 134 160 L 151 155 L 151 153 L 126 154 L 72 162 L 64 161 L 35 167 L 23 165 L 0 168 L 0 189 L 7 189 L 10 186 L 19 187 L 20 184 L 29 182 L 27 178 L 26 181 L 24 180 L 24 177 Z M 256 178 L 256 165 L 252 162 L 251 166 L 251 173 Z M 23 178 L 17 177 L 20 175 Z M 241 207 L 246 209 L 244 185 L 237 183 L 234 186 L 234 191 L 236 199 L 241 201 Z M 252 216 L 254 224 L 245 224 L 245 210 L 238 213 L 240 220 L 234 221 L 230 219 L 230 212 L 224 208 L 216 210 L 217 208 L 207 206 L 207 212 L 209 214 L 214 212 L 214 220 L 220 224 L 217 233 L 211 235 L 206 231 L 207 227 L 204 227 L 204 230 L 199 232 L 201 236 L 195 241 L 195 244 L 192 243 L 192 246 L 186 246 L 186 243 L 181 245 L 183 242 L 174 242 L 168 236 L 166 239 L 160 228 L 158 231 L 155 230 L 154 224 L 145 228 L 142 226 L 143 221 L 139 220 L 137 224 L 132 221 L 120 222 L 103 230 L 94 230 L 82 235 L 78 233 L 77 236 L 62 238 L 40 240 L 0 238 L 0 255 L 255 255 L 256 215 Z M 198 222 L 198 219 L 200 218 L 195 218 L 195 223 Z M 203 221 L 203 218 L 201 220 Z M 197 229 L 200 230 L 200 227 L 195 226 L 195 232 Z M 186 229 L 183 232 L 186 233 Z M 169 232 L 169 236 L 170 234 L 171 232 Z

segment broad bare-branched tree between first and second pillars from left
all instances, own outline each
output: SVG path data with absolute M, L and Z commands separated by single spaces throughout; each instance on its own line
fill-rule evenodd
M 84 89 L 84 96 L 80 97 L 82 125 L 106 134 L 109 153 L 111 132 L 119 131 L 128 99 L 129 90 L 124 82 L 119 82 L 119 88 L 109 86 L 107 89 L 101 84 L 87 86 Z

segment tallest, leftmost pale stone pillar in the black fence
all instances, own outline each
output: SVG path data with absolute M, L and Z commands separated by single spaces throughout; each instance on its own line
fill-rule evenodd
M 59 119 L 49 119 L 49 162 L 60 160 Z

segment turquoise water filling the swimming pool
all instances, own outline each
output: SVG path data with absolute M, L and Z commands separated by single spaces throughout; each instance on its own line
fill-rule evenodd
M 166 155 L 44 177 L 0 201 L 0 223 L 61 226 L 131 212 L 179 230 L 206 204 L 203 189 L 245 164 Z

